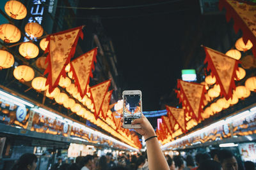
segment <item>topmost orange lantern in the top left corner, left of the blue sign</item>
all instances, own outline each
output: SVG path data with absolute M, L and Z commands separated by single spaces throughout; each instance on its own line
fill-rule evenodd
M 27 9 L 20 1 L 7 1 L 4 10 L 11 18 L 21 20 L 26 17 Z

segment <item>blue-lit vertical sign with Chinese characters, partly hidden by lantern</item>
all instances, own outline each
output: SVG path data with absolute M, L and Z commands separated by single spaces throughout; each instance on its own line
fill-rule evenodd
M 46 0 L 33 0 L 32 1 L 33 5 L 30 9 L 30 13 L 33 17 L 29 17 L 28 23 L 38 22 L 38 24 L 40 24 L 40 25 L 42 24 L 45 1 Z M 29 34 L 27 32 L 26 32 L 26 35 L 29 37 Z M 33 38 L 30 38 L 30 39 L 33 39 Z M 29 39 L 24 37 L 24 41 L 29 41 Z M 36 41 L 36 39 L 35 39 L 35 41 Z

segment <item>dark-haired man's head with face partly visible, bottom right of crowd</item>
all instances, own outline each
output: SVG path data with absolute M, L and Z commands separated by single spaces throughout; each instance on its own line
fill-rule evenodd
M 220 150 L 220 163 L 223 170 L 237 170 L 237 160 L 230 150 Z

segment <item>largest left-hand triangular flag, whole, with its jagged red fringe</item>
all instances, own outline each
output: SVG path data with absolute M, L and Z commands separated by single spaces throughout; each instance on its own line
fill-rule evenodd
M 48 73 L 45 85 L 49 85 L 50 93 L 58 86 L 60 76 L 66 77 L 65 67 L 76 52 L 78 38 L 83 39 L 82 28 L 83 26 L 57 32 L 46 38 L 49 44 L 45 53 L 49 53 L 45 60 L 48 66 L 44 74 Z

